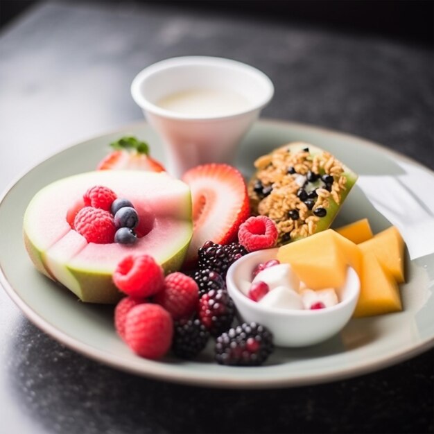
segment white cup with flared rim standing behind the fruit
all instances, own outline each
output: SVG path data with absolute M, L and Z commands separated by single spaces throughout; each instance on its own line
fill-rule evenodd
M 163 98 L 193 89 L 235 92 L 245 99 L 238 110 L 209 114 L 182 113 L 158 105 Z M 140 71 L 131 94 L 166 146 L 167 168 L 180 176 L 209 162 L 230 162 L 236 145 L 267 105 L 274 87 L 263 72 L 235 60 L 186 56 L 157 62 Z

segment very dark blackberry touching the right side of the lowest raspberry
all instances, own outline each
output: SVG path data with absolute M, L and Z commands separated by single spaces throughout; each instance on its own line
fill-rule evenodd
M 175 322 L 172 351 L 181 358 L 194 358 L 207 346 L 209 331 L 198 318 Z

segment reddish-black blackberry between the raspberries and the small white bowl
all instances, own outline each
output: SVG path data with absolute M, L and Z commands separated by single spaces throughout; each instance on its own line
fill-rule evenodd
M 235 305 L 226 289 L 211 289 L 199 300 L 199 319 L 212 336 L 228 330 L 235 316 Z

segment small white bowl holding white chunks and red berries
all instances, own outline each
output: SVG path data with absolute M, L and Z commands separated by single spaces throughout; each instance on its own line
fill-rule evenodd
M 245 255 L 229 267 L 226 283 L 229 295 L 245 322 L 259 322 L 268 327 L 280 347 L 306 347 L 336 335 L 347 324 L 356 309 L 360 280 L 353 268 L 347 270 L 347 280 L 336 288 L 340 302 L 317 310 L 276 309 L 250 300 L 240 290 L 252 280 L 258 263 L 275 259 L 277 248 Z

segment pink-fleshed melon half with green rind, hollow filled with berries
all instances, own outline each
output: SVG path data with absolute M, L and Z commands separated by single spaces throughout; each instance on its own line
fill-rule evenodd
M 95 185 L 132 202 L 145 233 L 137 243 L 87 243 L 72 229 L 83 194 Z M 167 272 L 178 270 L 192 232 L 189 187 L 167 173 L 96 171 L 67 177 L 37 193 L 24 215 L 24 240 L 36 268 L 83 302 L 119 300 L 112 272 L 126 254 L 150 254 Z

